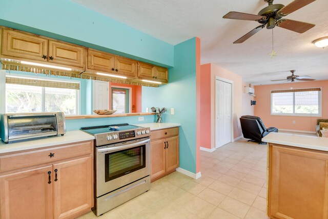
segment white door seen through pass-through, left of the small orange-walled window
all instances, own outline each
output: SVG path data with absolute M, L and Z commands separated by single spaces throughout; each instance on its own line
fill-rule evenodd
M 94 81 L 93 93 L 93 109 L 109 109 L 109 83 Z

